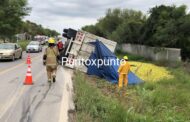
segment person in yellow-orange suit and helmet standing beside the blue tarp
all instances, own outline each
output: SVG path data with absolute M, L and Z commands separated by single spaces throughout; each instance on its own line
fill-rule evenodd
M 120 67 L 118 69 L 118 73 L 119 73 L 118 87 L 119 87 L 119 89 L 123 87 L 123 84 L 125 87 L 128 85 L 128 74 L 130 71 L 130 64 L 128 63 L 128 57 L 124 56 L 123 59 L 124 59 L 124 61 L 121 62 Z

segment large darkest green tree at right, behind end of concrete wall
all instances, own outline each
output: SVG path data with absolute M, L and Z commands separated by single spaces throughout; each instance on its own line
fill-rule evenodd
M 182 49 L 182 58 L 190 58 L 190 15 L 186 6 L 156 6 L 143 27 L 141 41 L 145 45 Z

